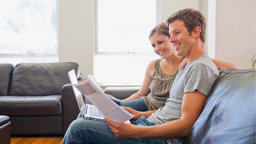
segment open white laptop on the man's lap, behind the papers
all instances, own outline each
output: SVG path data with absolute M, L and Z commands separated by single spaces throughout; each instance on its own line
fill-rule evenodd
M 101 114 L 100 111 L 98 111 L 98 109 L 94 105 L 86 104 L 85 98 L 83 97 L 82 93 L 79 90 L 77 90 L 76 87 L 73 86 L 73 84 L 78 83 L 75 70 L 73 69 L 70 72 L 68 72 L 68 75 L 82 117 L 87 119 L 104 121 L 105 116 Z

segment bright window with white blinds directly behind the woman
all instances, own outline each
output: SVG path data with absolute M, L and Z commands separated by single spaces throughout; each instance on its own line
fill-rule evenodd
M 95 0 L 94 76 L 100 85 L 141 85 L 160 58 L 149 42 L 159 24 L 159 0 Z

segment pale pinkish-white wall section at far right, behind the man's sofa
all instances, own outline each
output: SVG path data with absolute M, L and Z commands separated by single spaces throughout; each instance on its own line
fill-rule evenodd
M 216 0 L 216 59 L 252 68 L 255 17 L 255 0 Z

